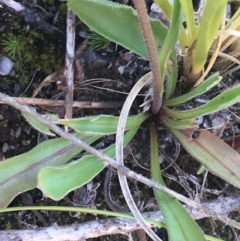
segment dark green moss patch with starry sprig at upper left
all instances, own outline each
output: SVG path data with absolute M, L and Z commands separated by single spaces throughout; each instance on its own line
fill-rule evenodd
M 37 30 L 17 24 L 16 20 L 3 33 L 0 45 L 2 54 L 14 61 L 21 84 L 29 83 L 36 69 L 49 75 L 63 64 L 64 54 L 57 44 Z

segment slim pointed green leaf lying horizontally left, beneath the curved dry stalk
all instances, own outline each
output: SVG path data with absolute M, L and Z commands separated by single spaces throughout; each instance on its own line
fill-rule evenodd
M 142 124 L 149 117 L 147 113 L 140 113 L 127 119 L 126 130 Z M 79 119 L 58 120 L 57 124 L 71 127 L 77 132 L 84 134 L 109 135 L 117 131 L 119 117 L 110 115 L 89 116 Z

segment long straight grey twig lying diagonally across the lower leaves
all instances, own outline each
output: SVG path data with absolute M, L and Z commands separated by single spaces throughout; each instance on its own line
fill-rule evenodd
M 89 152 L 90 154 L 100 158 L 106 165 L 111 165 L 114 168 L 116 168 L 119 172 L 123 173 L 124 175 L 128 176 L 129 178 L 135 179 L 139 182 L 142 182 L 144 184 L 146 184 L 149 187 L 155 187 L 157 189 L 159 189 L 160 191 L 166 192 L 168 193 L 170 196 L 175 197 L 176 199 L 178 199 L 179 201 L 186 203 L 187 205 L 189 205 L 190 207 L 196 208 L 204 213 L 206 213 L 209 216 L 212 216 L 214 218 L 217 218 L 221 221 L 223 221 L 225 224 L 235 227 L 237 229 L 240 229 L 240 223 L 231 220 L 225 216 L 221 216 L 219 213 L 214 212 L 214 210 L 208 209 L 203 207 L 201 204 L 186 198 L 185 196 L 167 188 L 162 186 L 161 184 L 148 179 L 140 174 L 137 174 L 133 171 L 131 171 L 129 168 L 122 166 L 120 164 L 118 164 L 114 159 L 110 158 L 109 156 L 103 154 L 101 151 L 96 150 L 95 148 L 89 146 L 88 144 L 86 144 L 84 141 L 76 138 L 75 136 L 73 136 L 72 134 L 62 130 L 60 127 L 58 127 L 57 125 L 55 125 L 53 122 L 51 122 L 50 120 L 47 120 L 46 118 L 42 117 L 41 115 L 39 115 L 38 113 L 36 113 L 36 111 L 33 108 L 30 108 L 29 106 L 23 105 L 19 102 L 17 102 L 14 98 L 7 96 L 3 93 L 0 93 L 0 100 L 2 100 L 3 102 L 5 102 L 6 104 L 9 104 L 11 106 L 13 106 L 14 108 L 20 110 L 21 112 L 28 114 L 29 116 L 31 116 L 32 118 L 36 119 L 37 121 L 41 122 L 42 124 L 44 124 L 45 126 L 47 126 L 50 130 L 52 130 L 53 132 L 55 132 L 56 134 L 60 135 L 61 137 L 71 141 L 74 145 L 81 147 L 82 149 L 86 150 L 87 152 Z

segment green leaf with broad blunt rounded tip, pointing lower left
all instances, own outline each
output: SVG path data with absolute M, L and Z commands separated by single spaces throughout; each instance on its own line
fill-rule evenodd
M 129 130 L 124 136 L 124 145 L 132 139 L 138 127 Z M 115 144 L 107 147 L 104 154 L 114 157 Z M 62 199 L 70 191 L 83 186 L 98 173 L 106 164 L 92 155 L 87 155 L 70 164 L 59 167 L 42 168 L 38 176 L 38 188 L 45 196 L 54 200 Z

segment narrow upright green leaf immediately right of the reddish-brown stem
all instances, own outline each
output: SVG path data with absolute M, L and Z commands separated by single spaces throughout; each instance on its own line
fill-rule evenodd
M 167 62 L 169 60 L 170 54 L 173 51 L 175 51 L 175 45 L 178 40 L 180 24 L 181 24 L 181 6 L 179 1 L 175 0 L 173 5 L 171 25 L 167 32 L 167 36 L 164 40 L 162 49 L 159 53 L 159 64 L 160 64 L 160 72 L 161 72 L 162 79 L 164 79 L 164 76 L 166 74 Z M 173 63 L 173 64 L 177 65 L 177 63 Z M 177 78 L 175 80 L 172 79 L 172 81 L 167 81 L 164 98 L 168 99 L 172 95 L 176 86 L 176 81 L 177 81 Z

